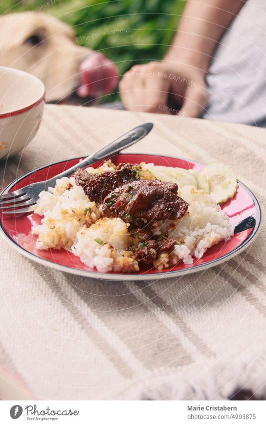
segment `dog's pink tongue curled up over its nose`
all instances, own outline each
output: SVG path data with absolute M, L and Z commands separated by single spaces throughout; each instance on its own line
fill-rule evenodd
M 80 65 L 80 97 L 97 97 L 110 93 L 118 83 L 118 71 L 113 62 L 99 52 L 89 54 Z

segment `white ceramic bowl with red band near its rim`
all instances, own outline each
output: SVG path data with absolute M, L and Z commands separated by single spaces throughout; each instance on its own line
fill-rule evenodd
M 41 80 L 14 68 L 0 67 L 0 159 L 14 155 L 32 140 L 44 104 Z

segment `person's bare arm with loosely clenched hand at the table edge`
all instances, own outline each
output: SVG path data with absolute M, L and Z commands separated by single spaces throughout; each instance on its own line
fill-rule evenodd
M 129 110 L 198 117 L 207 104 L 205 76 L 223 33 L 245 0 L 188 0 L 178 32 L 163 61 L 136 65 L 119 84 Z

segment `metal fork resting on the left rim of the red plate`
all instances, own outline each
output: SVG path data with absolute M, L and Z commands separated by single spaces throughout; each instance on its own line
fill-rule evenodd
M 143 137 L 145 137 L 152 128 L 152 123 L 145 123 L 135 127 L 129 132 L 123 134 L 123 136 L 120 136 L 118 139 L 115 139 L 113 142 L 104 146 L 99 151 L 83 159 L 83 161 L 80 161 L 78 164 L 68 168 L 60 174 L 57 174 L 49 180 L 29 184 L 22 189 L 15 190 L 14 192 L 7 192 L 7 187 L 0 195 L 0 210 L 2 210 L 3 214 L 22 214 L 32 212 L 34 210 L 34 205 L 38 200 L 39 193 L 42 190 L 47 190 L 50 186 L 55 186 L 57 179 L 68 177 L 73 174 L 77 168 L 88 167 L 96 161 L 106 159 L 111 155 L 120 152 L 121 149 L 125 149 L 143 139 Z

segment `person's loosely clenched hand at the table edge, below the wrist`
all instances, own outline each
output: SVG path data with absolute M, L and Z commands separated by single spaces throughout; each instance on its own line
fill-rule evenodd
M 199 117 L 207 104 L 205 72 L 173 62 L 133 66 L 119 91 L 129 111 Z

